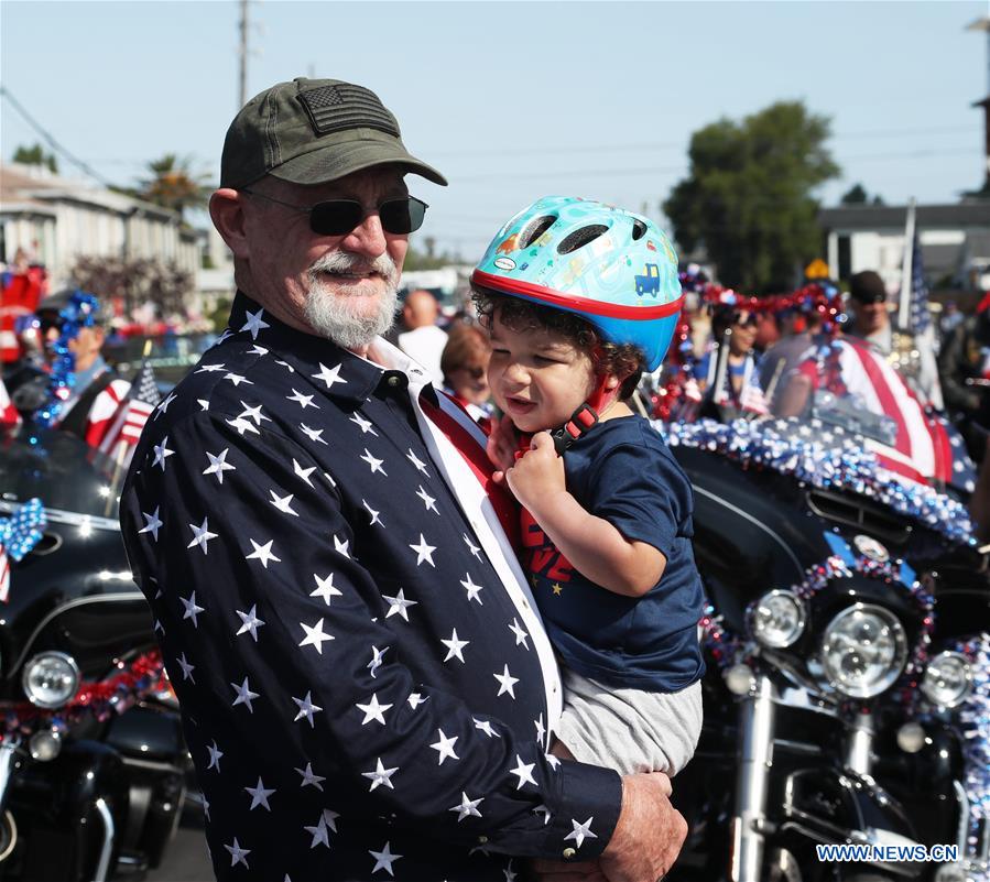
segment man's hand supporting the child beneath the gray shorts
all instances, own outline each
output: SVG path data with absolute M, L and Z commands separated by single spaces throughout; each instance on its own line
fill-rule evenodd
M 656 882 L 674 865 L 687 824 L 670 795 L 671 780 L 660 772 L 622 778 L 619 823 L 600 858 L 609 882 Z

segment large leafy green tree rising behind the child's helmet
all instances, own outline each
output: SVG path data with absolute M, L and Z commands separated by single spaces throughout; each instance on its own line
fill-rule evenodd
M 705 244 L 724 284 L 781 290 L 820 247 L 813 192 L 839 174 L 827 117 L 781 101 L 692 135 L 690 173 L 664 202 L 677 242 Z

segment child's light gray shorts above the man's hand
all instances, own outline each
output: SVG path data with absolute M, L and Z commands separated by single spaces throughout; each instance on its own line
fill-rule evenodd
M 694 755 L 701 733 L 701 684 L 679 693 L 603 686 L 562 668 L 564 714 L 556 736 L 583 763 L 623 775 L 674 776 Z

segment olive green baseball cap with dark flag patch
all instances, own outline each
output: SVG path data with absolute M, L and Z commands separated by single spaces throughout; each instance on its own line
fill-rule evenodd
M 385 164 L 447 185 L 405 149 L 395 117 L 373 91 L 296 77 L 255 95 L 233 118 L 224 141 L 220 186 L 237 189 L 265 175 L 325 184 Z

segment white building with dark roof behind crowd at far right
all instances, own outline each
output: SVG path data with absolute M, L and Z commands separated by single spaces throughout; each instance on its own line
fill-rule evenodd
M 990 200 L 920 205 L 918 241 L 933 288 L 990 288 Z M 906 206 L 844 205 L 818 213 L 833 279 L 875 270 L 889 292 L 901 286 Z

